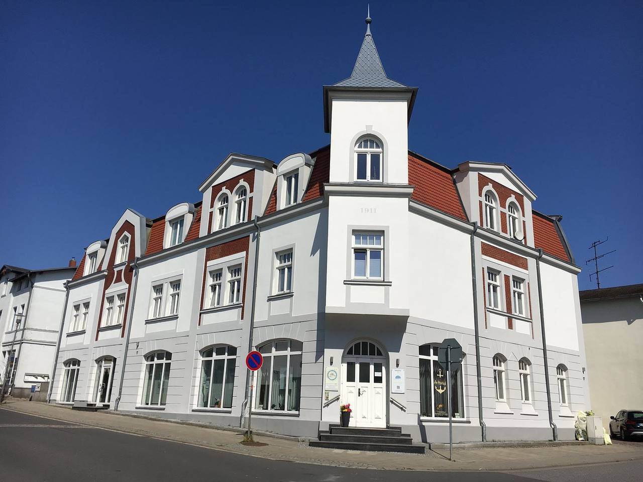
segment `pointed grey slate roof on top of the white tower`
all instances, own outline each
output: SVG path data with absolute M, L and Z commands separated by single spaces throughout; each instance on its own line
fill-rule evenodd
M 331 132 L 331 97 L 340 92 L 399 93 L 408 96 L 408 118 L 411 118 L 417 87 L 407 87 L 386 76 L 382 61 L 370 33 L 370 9 L 366 19 L 366 34 L 359 49 L 358 58 L 349 78 L 334 85 L 323 87 L 324 130 Z M 383 94 L 386 95 L 386 94 Z M 390 94 L 388 94 L 390 96 Z

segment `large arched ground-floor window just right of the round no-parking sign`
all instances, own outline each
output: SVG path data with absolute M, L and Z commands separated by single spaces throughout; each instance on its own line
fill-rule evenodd
M 264 364 L 257 371 L 255 410 L 299 411 L 302 342 L 271 341 L 259 347 Z

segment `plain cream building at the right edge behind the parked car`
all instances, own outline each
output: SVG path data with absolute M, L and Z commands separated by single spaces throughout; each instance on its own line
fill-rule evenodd
M 620 410 L 643 409 L 643 284 L 580 296 L 592 410 L 608 429 L 610 416 Z

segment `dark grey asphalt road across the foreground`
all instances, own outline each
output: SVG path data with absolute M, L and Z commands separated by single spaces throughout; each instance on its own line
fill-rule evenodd
M 248 457 L 0 409 L 0 480 L 200 482 L 640 481 L 643 461 L 527 472 L 343 469 Z

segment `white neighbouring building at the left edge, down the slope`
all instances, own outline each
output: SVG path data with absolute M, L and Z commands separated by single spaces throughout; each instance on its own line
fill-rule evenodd
M 48 388 L 65 303 L 64 283 L 75 271 L 75 260 L 66 268 L 4 265 L 0 269 L 0 384 L 6 391 L 12 388 L 13 397 L 29 397 L 33 385 L 44 383 L 45 392 Z

